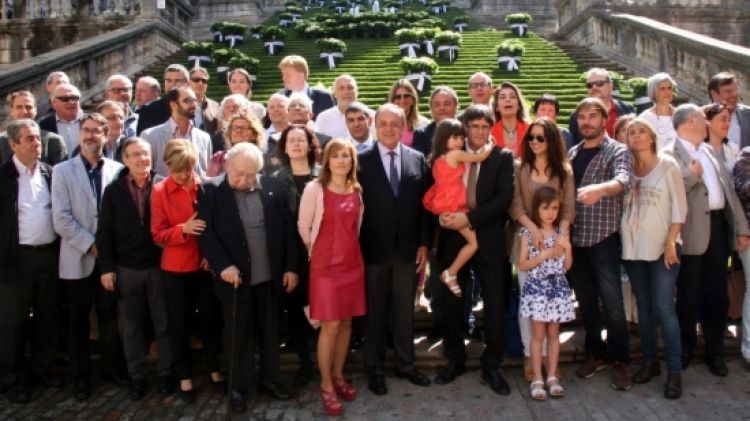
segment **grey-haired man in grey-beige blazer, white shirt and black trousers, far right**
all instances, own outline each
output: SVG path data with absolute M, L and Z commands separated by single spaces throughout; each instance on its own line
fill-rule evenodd
M 734 183 L 714 156 L 706 137 L 706 117 L 694 104 L 672 115 L 677 139 L 664 148 L 682 169 L 688 213 L 682 228 L 682 259 L 677 278 L 677 317 L 682 331 L 682 366 L 696 349 L 697 314 L 703 315 L 705 360 L 716 376 L 728 374 L 724 361 L 727 326 L 727 260 L 750 244 L 750 230 Z

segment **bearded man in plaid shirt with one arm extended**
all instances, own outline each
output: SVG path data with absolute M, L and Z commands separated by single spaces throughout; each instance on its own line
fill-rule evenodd
M 576 374 L 589 378 L 610 360 L 612 387 L 628 390 L 628 330 L 620 285 L 618 230 L 623 196 L 630 189 L 633 157 L 625 145 L 607 136 L 607 113 L 599 99 L 581 101 L 576 115 L 583 141 L 569 151 L 578 189 L 570 281 L 586 328 L 588 355 Z M 601 339 L 597 298 L 604 305 L 606 344 Z

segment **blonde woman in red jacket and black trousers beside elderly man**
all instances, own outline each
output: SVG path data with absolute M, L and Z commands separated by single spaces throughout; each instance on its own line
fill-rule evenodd
M 200 178 L 193 172 L 195 148 L 183 139 L 167 142 L 164 162 L 169 177 L 157 183 L 151 193 L 151 235 L 164 249 L 161 256 L 162 280 L 167 299 L 169 336 L 174 353 L 174 370 L 180 380 L 178 396 L 185 402 L 195 401 L 190 367 L 190 316 L 198 300 L 204 350 L 211 380 L 223 386 L 219 371 L 219 341 L 215 300 L 211 290 L 208 265 L 198 248 L 197 236 L 206 223 L 196 218 L 195 203 Z M 212 334 L 213 330 L 214 334 Z

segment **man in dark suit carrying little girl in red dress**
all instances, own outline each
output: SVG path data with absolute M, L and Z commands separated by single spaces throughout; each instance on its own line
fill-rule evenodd
M 478 151 L 490 140 L 490 128 L 494 124 L 492 110 L 486 105 L 471 105 L 462 114 L 462 123 L 467 133 L 466 150 Z M 464 173 L 466 183 L 467 213 L 457 212 L 442 215 L 438 259 L 444 267 L 450 265 L 465 240 L 457 230 L 469 227 L 474 230 L 479 251 L 458 273 L 458 283 L 466 291 L 469 269 L 482 286 L 484 301 L 485 349 L 482 354 L 482 380 L 501 395 L 510 393 L 510 386 L 500 374 L 498 367 L 505 350 L 505 291 L 510 279 L 506 279 L 503 260 L 507 259 L 504 228 L 508 220 L 508 207 L 513 200 L 513 154 L 507 149 L 495 149 L 489 157 L 477 164 L 467 164 Z M 452 382 L 465 371 L 466 348 L 463 342 L 463 300 L 442 285 L 445 299 L 445 329 L 443 346 L 448 357 L 448 367 L 435 378 L 438 384 Z

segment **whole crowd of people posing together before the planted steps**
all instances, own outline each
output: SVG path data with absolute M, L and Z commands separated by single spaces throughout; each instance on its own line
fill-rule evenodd
M 517 86 L 494 87 L 482 72 L 468 80 L 472 103 L 460 113 L 456 91 L 435 87 L 430 121 L 406 80 L 373 110 L 349 75 L 331 95 L 307 84 L 300 56 L 279 70 L 284 88 L 266 106 L 251 101 L 242 69 L 216 102 L 206 97 L 208 71 L 178 64 L 164 72 L 163 95 L 151 77 L 134 89 L 113 75 L 90 113 L 62 72 L 47 80 L 49 104 L 11 95 L 0 135 L 0 375 L 11 402 L 62 385 L 49 372 L 61 338 L 75 398 L 91 396 L 93 305 L 102 380 L 143 398 L 154 342 L 158 393 L 193 402 L 195 333 L 212 390 L 228 393 L 235 412 L 253 388 L 290 397 L 282 332 L 299 357 L 294 385 L 304 387 L 319 328 L 320 399 L 340 415 L 341 400 L 358 393 L 344 373 L 358 330 L 374 394 L 388 392 L 389 340 L 396 377 L 428 386 L 463 375 L 476 294 L 481 378 L 507 395 L 499 366 L 512 266 L 532 399 L 566 393 L 559 330 L 575 318 L 574 299 L 587 353 L 578 377 L 610 365 L 617 390 L 648 382 L 661 373 L 658 327 L 664 396 L 679 398 L 698 322 L 709 369 L 727 375 L 727 261 L 736 250 L 750 264 L 750 150 L 740 152 L 750 108 L 733 75 L 711 79 L 711 104 L 674 107 L 674 80 L 656 74 L 654 106 L 635 116 L 613 97 L 609 73 L 591 69 L 566 129 L 553 95 L 534 101 L 532 120 Z M 632 374 L 623 270 L 643 355 Z M 448 361 L 434 379 L 414 361 L 415 297 L 427 283 Z M 750 369 L 748 296 L 743 315 Z

